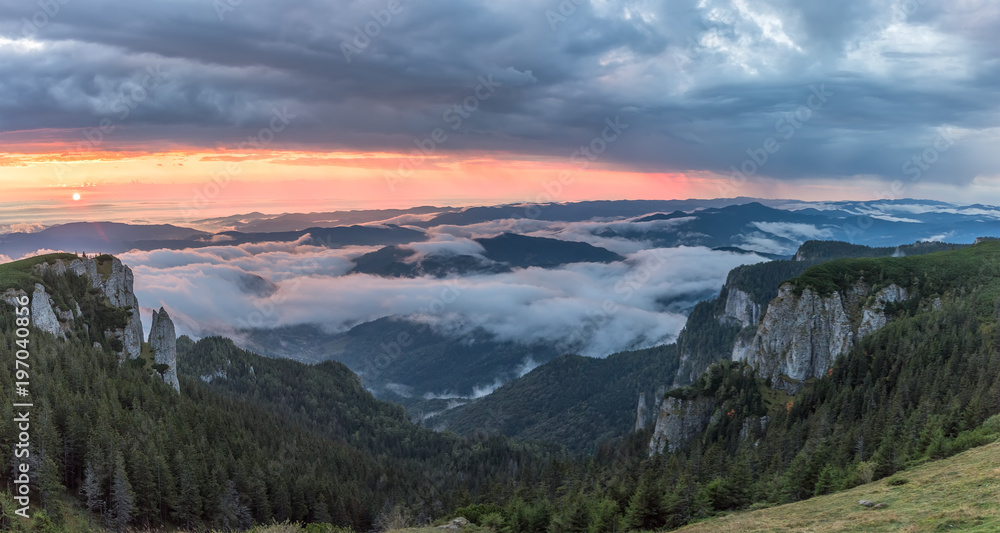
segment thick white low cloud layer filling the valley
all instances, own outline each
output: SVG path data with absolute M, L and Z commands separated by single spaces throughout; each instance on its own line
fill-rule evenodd
M 594 357 L 670 341 L 685 322 L 677 309 L 718 291 L 733 267 L 762 260 L 680 247 L 641 250 L 611 264 L 457 279 L 347 275 L 351 258 L 370 250 L 261 243 L 121 257 L 135 271 L 143 307 L 164 305 L 182 334 L 301 324 L 336 333 L 402 315 L 442 332 L 483 328 L 500 340 L 548 342 Z M 273 290 L 248 290 L 250 275 Z

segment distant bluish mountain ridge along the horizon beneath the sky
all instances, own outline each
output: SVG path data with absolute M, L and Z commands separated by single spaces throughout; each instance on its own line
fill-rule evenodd
M 810 239 L 874 247 L 922 240 L 972 243 L 979 236 L 997 233 L 1000 208 L 907 199 L 824 203 L 731 198 L 249 213 L 191 222 L 200 227 L 234 228 L 217 233 L 166 224 L 88 222 L 52 226 L 36 233 L 0 234 L 0 255 L 18 258 L 37 250 L 122 253 L 288 242 L 307 233 L 313 237 L 311 242 L 321 246 L 390 246 L 426 240 L 426 231 L 436 227 L 477 227 L 476 231 L 496 235 L 526 220 L 588 223 L 591 227 L 587 231 L 595 237 L 659 247 L 733 247 L 780 256 L 790 255 Z

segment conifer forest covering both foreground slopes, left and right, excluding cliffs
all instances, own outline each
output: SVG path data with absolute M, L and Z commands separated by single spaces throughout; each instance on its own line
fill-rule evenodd
M 0 274 L 21 276 L 10 267 Z M 83 307 L 94 320 L 123 320 L 72 273 L 43 281 L 66 302 L 91 302 Z M 654 386 L 637 379 L 642 371 L 669 374 L 682 362 L 679 348 L 713 346 L 720 337 L 682 336 L 677 346 L 619 354 L 598 363 L 604 367 L 558 358 L 539 374 L 550 382 L 504 387 L 525 400 L 511 413 L 487 411 L 497 418 L 486 423 L 526 437 L 557 431 L 572 439 L 575 429 L 582 435 L 575 446 L 594 450 L 577 458 L 503 437 L 421 429 L 338 363 L 310 367 L 261 358 L 226 339 L 182 338 L 178 395 L 145 350 L 123 361 L 92 328 L 74 328 L 66 340 L 35 333 L 36 505 L 48 507 L 58 526 L 65 513 L 56 502 L 69 498 L 119 530 L 289 519 L 366 531 L 387 516 L 423 523 L 455 514 L 504 533 L 657 529 L 855 487 L 998 437 L 1000 242 L 836 260 L 789 283 L 786 292 L 816 293 L 896 285 L 907 296 L 887 304 L 887 323 L 794 396 L 754 367 L 721 361 L 663 395 L 656 431 L 602 444 L 592 443 L 635 423 L 628 405 L 635 389 L 620 391 Z M 738 329 L 746 319 L 731 305 L 706 306 L 712 328 Z M 6 303 L 0 308 L 0 342 L 9 344 L 14 315 Z M 587 389 L 588 380 L 601 384 Z M 0 382 L 12 381 L 9 365 L 0 367 Z M 593 390 L 605 392 L 591 399 Z M 0 388 L 5 480 L 17 438 L 10 392 Z M 544 416 L 514 416 L 531 412 Z M 7 517 L 0 526 L 23 526 L 9 509 L 0 514 Z

